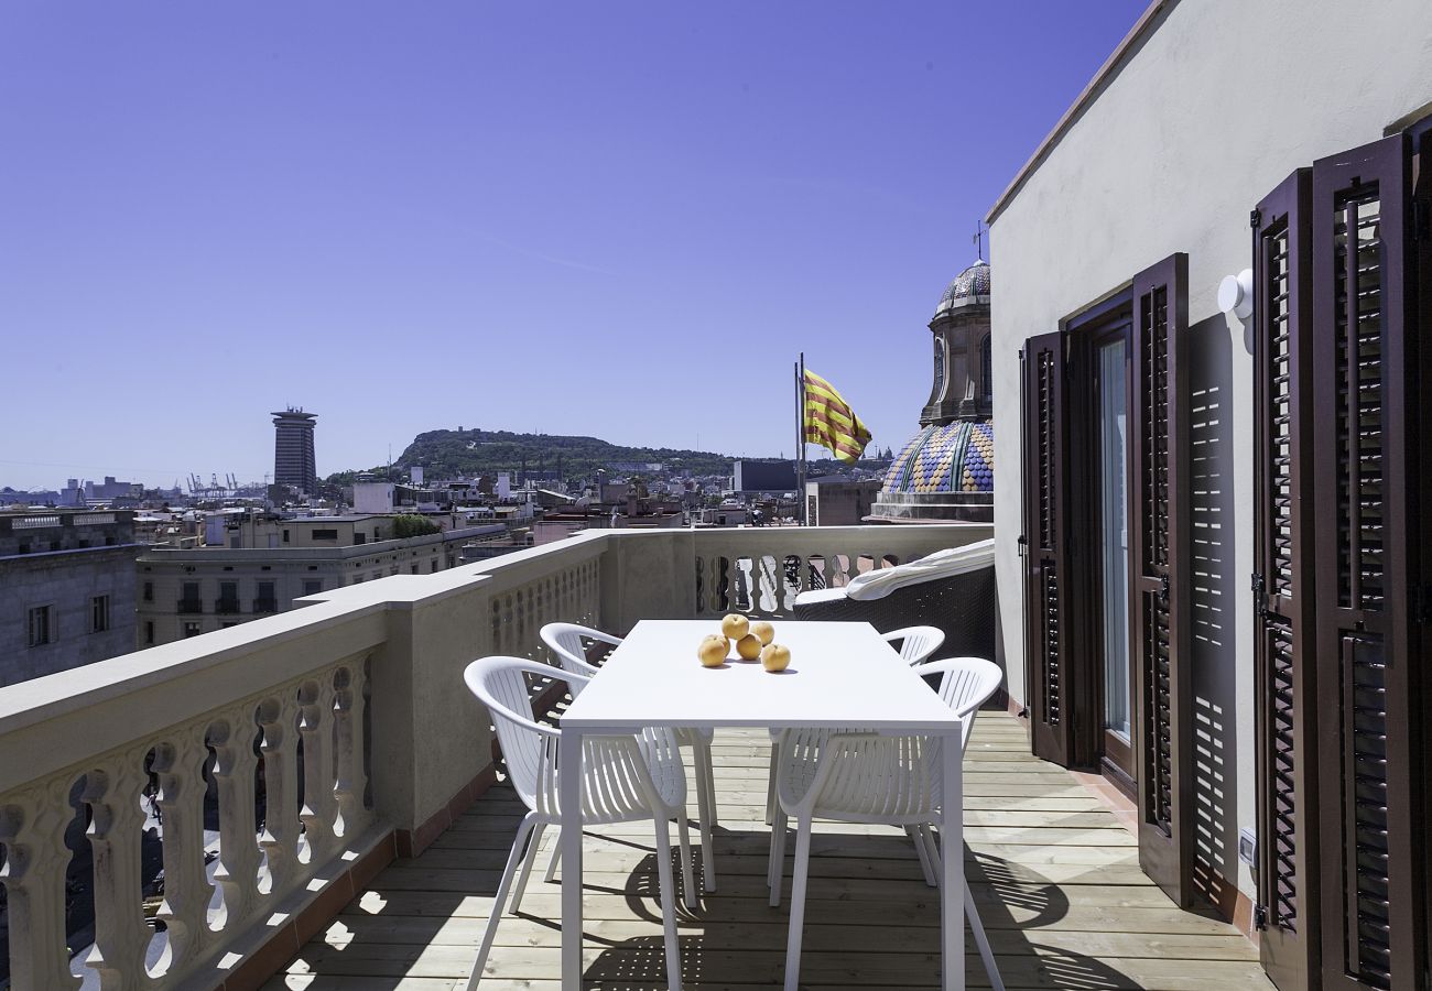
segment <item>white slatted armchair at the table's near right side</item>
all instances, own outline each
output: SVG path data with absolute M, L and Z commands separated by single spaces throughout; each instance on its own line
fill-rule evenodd
M 939 696 L 964 720 L 961 746 L 968 746 L 974 716 L 1000 686 L 1000 669 L 981 657 L 954 657 L 921 664 L 921 675 L 941 675 Z M 770 831 L 770 904 L 780 904 L 785 874 L 786 818 L 796 819 L 795 875 L 790 885 L 790 935 L 786 944 L 786 991 L 800 975 L 800 937 L 805 921 L 811 822 L 904 826 L 915 841 L 925 882 L 938 884 L 941 852 L 931 826 L 944 825 L 941 803 L 941 746 L 934 736 L 878 736 L 861 729 L 788 730 L 780 749 L 778 808 Z M 959 811 L 955 812 L 959 815 Z M 955 831 L 954 835 L 959 835 Z M 945 851 L 962 856 L 962 848 Z M 974 932 L 985 972 L 1004 991 L 984 924 L 965 882 L 965 918 Z

